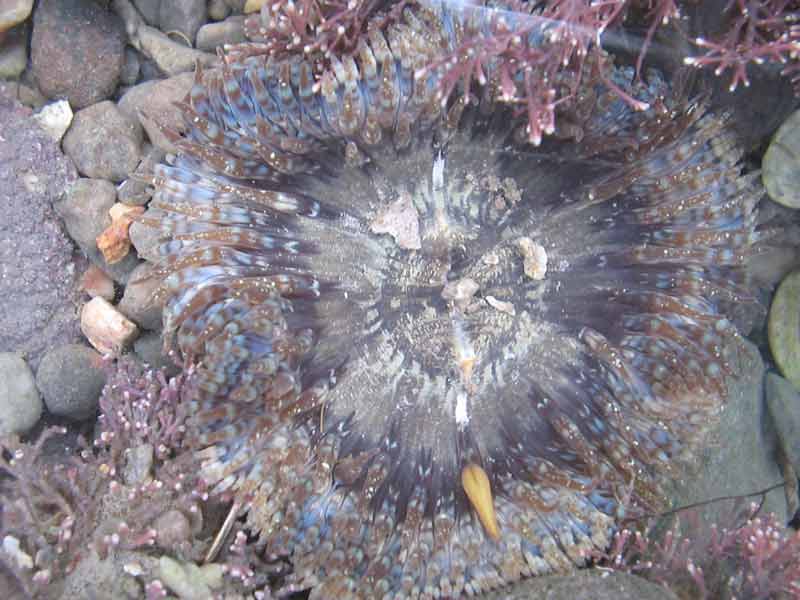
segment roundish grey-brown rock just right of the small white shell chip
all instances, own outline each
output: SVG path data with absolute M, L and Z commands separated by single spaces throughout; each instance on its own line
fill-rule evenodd
M 75 113 L 64 136 L 64 152 L 86 177 L 122 181 L 139 164 L 142 129 L 113 102 Z

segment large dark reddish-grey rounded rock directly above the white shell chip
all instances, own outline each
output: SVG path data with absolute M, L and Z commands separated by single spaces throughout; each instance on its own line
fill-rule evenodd
M 91 0 L 41 0 L 33 16 L 31 62 L 39 88 L 73 109 L 111 96 L 119 82 L 125 30 Z

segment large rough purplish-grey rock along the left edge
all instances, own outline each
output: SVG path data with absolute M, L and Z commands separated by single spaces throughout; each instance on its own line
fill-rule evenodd
M 74 246 L 52 203 L 75 168 L 30 116 L 0 92 L 0 352 L 35 369 L 45 349 L 78 339 Z

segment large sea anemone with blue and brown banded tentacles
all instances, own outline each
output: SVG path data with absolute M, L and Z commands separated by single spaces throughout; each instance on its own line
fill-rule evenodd
M 442 96 L 425 68 L 463 14 L 409 4 L 321 75 L 198 72 L 155 171 L 187 437 L 286 590 L 453 597 L 584 564 L 724 404 L 760 196 L 726 117 L 587 59 L 533 145 L 499 70 Z

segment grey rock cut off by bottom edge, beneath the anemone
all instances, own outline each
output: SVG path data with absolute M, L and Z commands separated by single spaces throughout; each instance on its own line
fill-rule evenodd
M 586 570 L 526 579 L 481 600 L 677 600 L 671 591 L 627 573 Z

